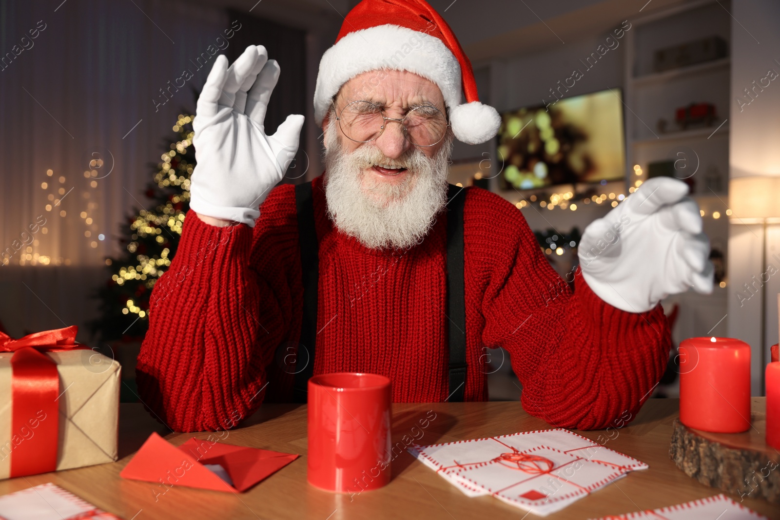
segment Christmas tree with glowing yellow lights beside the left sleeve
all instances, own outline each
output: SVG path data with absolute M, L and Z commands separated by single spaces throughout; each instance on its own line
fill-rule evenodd
M 193 115 L 180 114 L 170 143 L 161 161 L 153 165 L 154 181 L 146 196 L 154 209 L 137 210 L 122 229 L 124 253 L 107 258 L 111 271 L 98 289 L 101 316 L 90 322 L 101 341 L 140 338 L 149 325 L 149 296 L 154 284 L 168 266 L 182 235 L 184 215 L 190 207 L 190 175 L 195 167 Z

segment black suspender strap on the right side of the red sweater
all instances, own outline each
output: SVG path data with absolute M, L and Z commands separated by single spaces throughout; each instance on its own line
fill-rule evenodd
M 466 389 L 466 291 L 463 284 L 463 203 L 466 193 L 447 192 L 447 310 L 449 313 L 449 397 L 463 401 Z

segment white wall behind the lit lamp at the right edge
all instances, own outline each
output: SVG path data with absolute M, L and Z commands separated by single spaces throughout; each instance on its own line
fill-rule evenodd
M 767 76 L 769 69 L 780 73 L 780 2 L 776 0 L 732 0 L 732 103 L 729 125 L 729 177 L 780 175 L 780 78 L 770 82 L 755 98 L 746 102 L 747 87 Z M 764 83 L 765 84 L 765 83 Z M 760 195 L 760 194 L 759 194 Z M 780 193 L 766 194 L 775 200 Z M 733 201 L 731 202 L 733 203 Z M 780 274 L 748 301 L 737 292 L 752 277 L 766 271 L 764 263 L 780 263 L 780 233 L 777 226 L 764 233 L 763 225 L 731 219 L 729 238 L 729 336 L 741 338 L 753 348 L 753 395 L 764 394 L 764 365 L 769 345 L 778 341 L 777 292 Z M 764 244 L 764 237 L 768 237 Z M 741 301 L 742 300 L 742 301 Z M 761 328 L 764 325 L 764 341 Z

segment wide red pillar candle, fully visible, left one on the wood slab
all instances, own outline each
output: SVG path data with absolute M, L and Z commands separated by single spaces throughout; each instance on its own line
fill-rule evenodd
M 690 338 L 679 347 L 680 421 L 737 433 L 750 428 L 750 345 L 732 338 Z

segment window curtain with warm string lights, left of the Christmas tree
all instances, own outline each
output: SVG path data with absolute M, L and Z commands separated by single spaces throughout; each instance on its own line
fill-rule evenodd
M 9 334 L 80 325 L 78 339 L 90 340 L 83 325 L 96 315 L 90 294 L 111 276 L 105 258 L 150 203 L 145 187 L 176 116 L 193 113 L 216 55 L 233 58 L 247 40 L 278 45 L 277 59 L 297 49 L 283 28 L 237 16 L 178 0 L 0 2 L 0 322 Z M 303 113 L 305 59 L 295 59 L 300 66 L 279 59 L 289 86 L 274 94 L 271 128 Z

